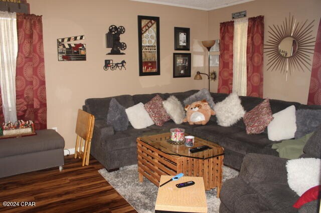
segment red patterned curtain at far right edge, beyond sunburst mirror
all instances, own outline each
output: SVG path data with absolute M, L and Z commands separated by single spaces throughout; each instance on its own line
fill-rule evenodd
M 316 33 L 308 105 L 321 105 L 321 18 Z

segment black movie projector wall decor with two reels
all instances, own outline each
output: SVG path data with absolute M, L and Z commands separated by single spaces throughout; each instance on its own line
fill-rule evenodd
M 107 54 L 125 54 L 120 50 L 125 50 L 127 45 L 125 42 L 120 42 L 120 35 L 125 32 L 125 27 L 110 25 L 109 31 L 106 33 L 106 47 L 111 48 Z

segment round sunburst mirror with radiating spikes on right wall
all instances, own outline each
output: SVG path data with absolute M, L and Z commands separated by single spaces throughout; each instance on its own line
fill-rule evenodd
M 315 42 L 311 34 L 313 22 L 299 23 L 289 14 L 283 24 L 269 26 L 269 38 L 264 44 L 267 46 L 264 48 L 268 56 L 267 70 L 280 70 L 286 76 L 294 70 L 310 70 L 309 54 L 313 54 Z

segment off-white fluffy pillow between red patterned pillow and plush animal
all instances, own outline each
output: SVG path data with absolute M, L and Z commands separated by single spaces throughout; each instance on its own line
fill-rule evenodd
M 179 99 L 171 95 L 163 101 L 164 108 L 176 124 L 181 124 L 185 117 L 185 109 Z

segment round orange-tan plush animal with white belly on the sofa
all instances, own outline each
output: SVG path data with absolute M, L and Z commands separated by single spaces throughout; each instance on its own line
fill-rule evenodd
M 215 115 L 215 111 L 211 109 L 206 100 L 195 101 L 191 105 L 185 106 L 186 117 L 183 122 L 189 122 L 190 125 L 202 124 L 205 125 L 211 115 Z

